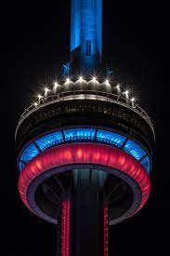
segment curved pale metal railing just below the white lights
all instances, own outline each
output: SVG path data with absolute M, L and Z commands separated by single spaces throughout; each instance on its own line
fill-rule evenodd
M 36 105 L 33 103 L 30 107 L 28 107 L 22 115 L 20 115 L 20 120 L 18 126 L 16 128 L 16 134 L 18 129 L 20 128 L 21 123 L 29 116 L 32 115 L 33 112 L 46 107 L 47 105 L 53 104 L 59 101 L 71 101 L 71 100 L 97 100 L 97 101 L 109 101 L 119 105 L 122 105 L 128 109 L 131 109 L 138 115 L 140 115 L 149 125 L 153 132 L 154 138 L 154 128 L 152 126 L 150 116 L 147 115 L 145 110 L 143 110 L 140 106 L 138 106 L 135 102 L 130 101 L 129 99 L 124 98 L 122 95 L 112 94 L 99 90 L 71 90 L 60 92 L 56 94 L 51 94 L 49 96 L 43 97 L 41 100 L 36 101 Z

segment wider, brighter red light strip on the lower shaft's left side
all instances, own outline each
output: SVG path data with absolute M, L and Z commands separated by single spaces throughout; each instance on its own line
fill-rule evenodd
M 70 211 L 71 202 L 62 202 L 61 216 L 61 256 L 70 255 Z

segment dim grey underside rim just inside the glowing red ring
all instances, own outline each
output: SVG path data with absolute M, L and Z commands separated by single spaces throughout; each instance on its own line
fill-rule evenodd
M 53 175 L 57 175 L 61 172 L 64 171 L 70 171 L 72 169 L 77 169 L 77 168 L 90 168 L 90 169 L 99 169 L 102 171 L 107 172 L 108 174 L 112 174 L 118 178 L 120 178 L 121 180 L 123 180 L 132 190 L 133 193 L 133 202 L 131 204 L 131 206 L 126 209 L 124 211 L 124 213 L 121 214 L 121 216 L 113 218 L 110 220 L 110 224 L 116 224 L 119 222 L 123 222 L 124 220 L 126 220 L 127 218 L 129 218 L 130 216 L 132 216 L 134 214 L 134 212 L 137 211 L 137 209 L 139 208 L 140 202 L 141 202 L 141 190 L 140 187 L 138 186 L 137 182 L 135 180 L 133 180 L 130 176 L 128 176 L 127 174 L 125 174 L 124 172 L 117 170 L 115 168 L 108 168 L 105 166 L 101 166 L 101 165 L 93 165 L 93 164 L 76 164 L 76 165 L 67 165 L 67 166 L 62 166 L 59 168 L 52 168 L 50 170 L 47 170 L 46 172 L 40 174 L 38 177 L 36 177 L 33 182 L 29 185 L 29 188 L 27 190 L 27 201 L 28 204 L 30 206 L 30 208 L 32 209 L 32 211 L 38 215 L 40 218 L 46 220 L 47 222 L 51 222 L 54 224 L 58 223 L 58 220 L 54 217 L 52 217 L 50 214 L 48 214 L 48 212 L 46 212 L 45 209 L 41 209 L 41 207 L 36 203 L 36 199 L 35 199 L 35 193 L 37 188 L 39 187 L 39 185 L 44 182 L 46 179 L 48 179 L 49 177 L 53 176 Z

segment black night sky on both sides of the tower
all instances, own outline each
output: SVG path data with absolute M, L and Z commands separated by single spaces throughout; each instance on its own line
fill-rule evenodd
M 111 256 L 168 255 L 168 7 L 165 1 L 103 2 L 104 59 L 132 85 L 156 129 L 149 202 L 136 217 L 111 228 Z M 39 82 L 69 59 L 70 1 L 7 1 L 0 19 L 1 252 L 55 255 L 56 227 L 33 216 L 20 200 L 14 132 Z

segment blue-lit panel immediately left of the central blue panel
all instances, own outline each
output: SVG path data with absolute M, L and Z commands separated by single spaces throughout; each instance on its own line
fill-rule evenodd
M 63 142 L 62 132 L 57 131 L 35 141 L 41 151 Z

